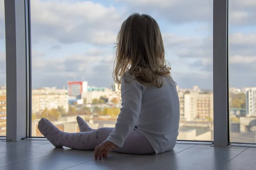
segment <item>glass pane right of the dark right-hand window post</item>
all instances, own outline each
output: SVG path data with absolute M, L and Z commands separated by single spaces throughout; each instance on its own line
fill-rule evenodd
M 230 142 L 256 143 L 256 1 L 229 0 Z

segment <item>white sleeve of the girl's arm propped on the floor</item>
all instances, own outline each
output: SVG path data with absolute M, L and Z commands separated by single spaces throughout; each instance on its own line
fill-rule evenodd
M 118 147 L 122 147 L 125 139 L 134 129 L 135 123 L 139 119 L 142 102 L 142 85 L 136 80 L 121 81 L 122 108 L 118 115 L 115 128 L 107 138 Z

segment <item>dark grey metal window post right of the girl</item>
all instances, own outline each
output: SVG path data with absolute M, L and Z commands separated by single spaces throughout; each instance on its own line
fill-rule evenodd
M 213 0 L 213 145 L 229 144 L 228 0 Z

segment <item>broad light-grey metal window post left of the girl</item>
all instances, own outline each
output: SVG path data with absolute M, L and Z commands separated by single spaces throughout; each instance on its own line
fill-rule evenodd
M 26 10 L 25 0 L 4 0 L 6 31 L 6 140 L 26 138 Z

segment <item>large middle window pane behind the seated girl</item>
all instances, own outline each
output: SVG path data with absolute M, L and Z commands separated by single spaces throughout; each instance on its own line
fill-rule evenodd
M 114 127 L 120 92 L 113 85 L 113 47 L 134 11 L 160 25 L 180 96 L 183 140 L 212 140 L 212 0 L 33 0 L 32 136 L 47 116 L 77 131 L 76 115 L 94 128 Z M 55 88 L 54 88 L 55 87 Z

